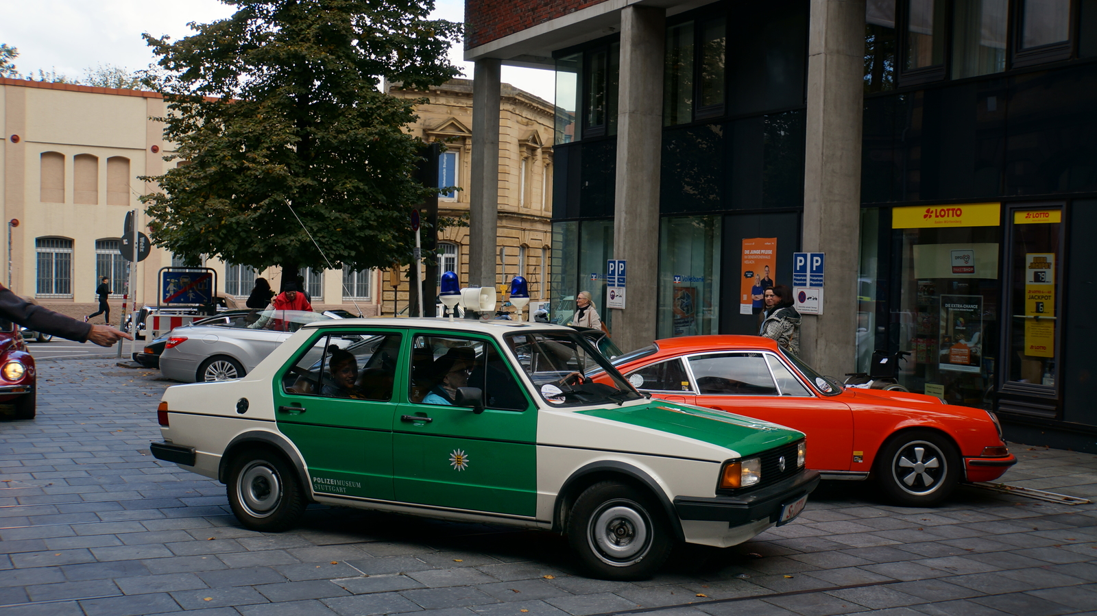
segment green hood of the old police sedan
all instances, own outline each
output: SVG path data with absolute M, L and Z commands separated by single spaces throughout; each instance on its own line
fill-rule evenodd
M 790 427 L 691 404 L 651 400 L 640 404 L 576 411 L 576 414 L 669 433 L 751 455 L 803 438 Z

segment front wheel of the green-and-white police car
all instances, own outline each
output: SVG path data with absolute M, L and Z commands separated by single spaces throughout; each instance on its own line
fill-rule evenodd
M 674 547 L 654 499 L 617 481 L 601 481 L 576 499 L 567 522 L 579 561 L 603 580 L 651 578 Z

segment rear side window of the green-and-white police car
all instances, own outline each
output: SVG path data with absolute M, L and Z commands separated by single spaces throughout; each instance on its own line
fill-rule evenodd
M 400 334 L 332 332 L 319 338 L 286 372 L 286 393 L 373 400 L 393 399 Z

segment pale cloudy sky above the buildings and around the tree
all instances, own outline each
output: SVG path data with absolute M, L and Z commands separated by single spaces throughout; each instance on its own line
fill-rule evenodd
M 217 0 L 24 0 L 4 7 L 0 43 L 19 48 L 15 66 L 23 73 L 44 69 L 80 77 L 97 65 L 137 70 L 154 60 L 143 32 L 181 38 L 191 33 L 188 23 L 231 13 L 231 7 Z M 464 2 L 437 0 L 434 15 L 463 21 Z M 471 79 L 472 64 L 461 60 L 461 49 L 452 49 L 450 56 Z M 502 80 L 553 99 L 553 80 L 546 71 L 504 67 Z

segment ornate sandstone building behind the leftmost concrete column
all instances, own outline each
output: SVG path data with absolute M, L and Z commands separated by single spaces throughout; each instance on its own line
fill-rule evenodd
M 417 107 L 419 119 L 408 127 L 425 141 L 443 141 L 440 175 L 452 178 L 459 190 L 439 198 L 439 216 L 459 218 L 468 213 L 472 167 L 473 82 L 453 79 L 427 92 L 389 84 L 387 92 L 400 98 L 427 98 Z M 524 90 L 504 83 L 499 110 L 499 217 L 497 285 L 509 285 L 516 275 L 530 283 L 531 305 L 548 299 L 548 265 L 552 246 L 552 138 L 553 105 Z M 445 180 L 442 183 L 446 183 Z M 442 249 L 439 273 L 456 272 L 461 285 L 468 284 L 468 228 L 451 227 L 439 236 Z M 402 276 L 403 277 L 403 276 Z M 383 280 L 382 313 L 394 310 L 394 287 Z M 407 283 L 395 289 L 395 309 L 407 307 Z M 429 292 L 426 297 L 432 297 Z M 501 301 L 500 301 L 501 304 Z M 530 310 L 525 311 L 527 317 Z

